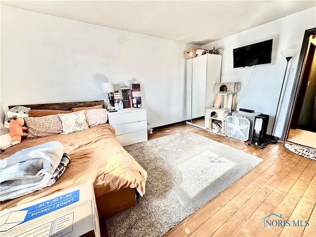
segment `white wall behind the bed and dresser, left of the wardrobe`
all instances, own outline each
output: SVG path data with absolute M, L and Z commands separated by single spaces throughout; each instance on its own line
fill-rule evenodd
M 102 82 L 136 79 L 149 127 L 182 121 L 192 46 L 1 6 L 1 104 L 102 100 Z

